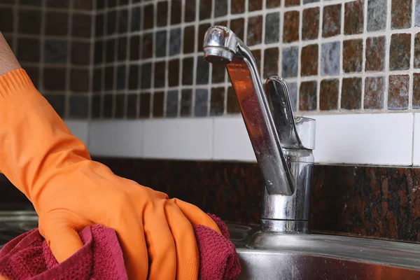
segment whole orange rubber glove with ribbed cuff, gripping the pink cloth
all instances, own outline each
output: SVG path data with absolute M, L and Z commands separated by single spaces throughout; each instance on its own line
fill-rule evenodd
M 78 251 L 77 231 L 116 230 L 130 279 L 197 279 L 193 225 L 214 230 L 197 207 L 116 176 L 90 159 L 23 69 L 0 76 L 0 170 L 34 204 L 59 262 Z

